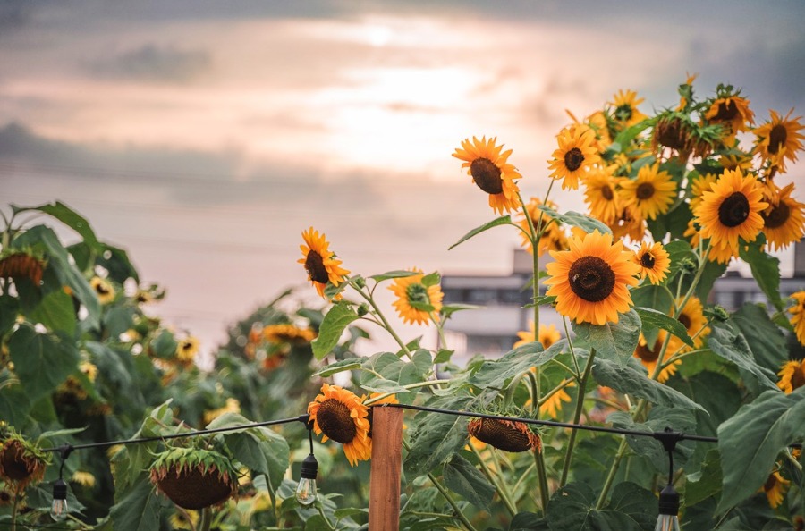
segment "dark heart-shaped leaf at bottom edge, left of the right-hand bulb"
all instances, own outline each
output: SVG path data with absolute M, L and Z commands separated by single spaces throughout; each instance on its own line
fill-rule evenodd
M 604 510 L 596 510 L 596 502 L 596 494 L 588 485 L 564 485 L 548 503 L 546 517 L 551 531 L 637 531 L 653 529 L 657 521 L 657 498 L 640 485 L 615 485 Z

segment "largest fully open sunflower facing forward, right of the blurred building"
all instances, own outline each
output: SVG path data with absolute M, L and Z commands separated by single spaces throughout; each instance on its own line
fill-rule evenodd
M 576 323 L 617 323 L 618 313 L 631 306 L 628 286 L 638 282 L 640 266 L 630 255 L 622 242 L 598 231 L 573 238 L 570 250 L 551 252 L 555 262 L 546 266 L 545 283 L 546 294 L 556 297 L 556 311 Z

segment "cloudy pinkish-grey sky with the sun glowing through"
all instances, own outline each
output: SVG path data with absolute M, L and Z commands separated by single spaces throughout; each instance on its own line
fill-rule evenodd
M 355 273 L 507 274 L 514 232 L 447 250 L 493 218 L 450 156 L 466 137 L 513 148 L 529 197 L 565 109 L 618 89 L 648 112 L 698 72 L 699 95 L 740 86 L 758 122 L 805 114 L 802 21 L 801 0 L 0 0 L 0 206 L 76 208 L 211 350 L 305 284 L 309 225 Z

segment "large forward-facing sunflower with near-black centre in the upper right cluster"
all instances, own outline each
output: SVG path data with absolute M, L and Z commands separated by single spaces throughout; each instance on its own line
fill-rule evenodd
M 739 237 L 746 242 L 758 238 L 763 229 L 760 213 L 767 206 L 753 176 L 741 170 L 725 170 L 711 190 L 702 193 L 693 215 L 701 226 L 701 238 L 734 253 L 739 249 Z

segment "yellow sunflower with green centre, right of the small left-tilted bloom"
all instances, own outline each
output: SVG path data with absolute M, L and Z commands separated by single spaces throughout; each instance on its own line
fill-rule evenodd
M 438 274 L 425 275 L 417 268 L 411 271 L 415 274 L 395 278 L 388 287 L 397 296 L 392 304 L 404 323 L 428 325 L 431 319 L 438 320 L 445 294 Z

